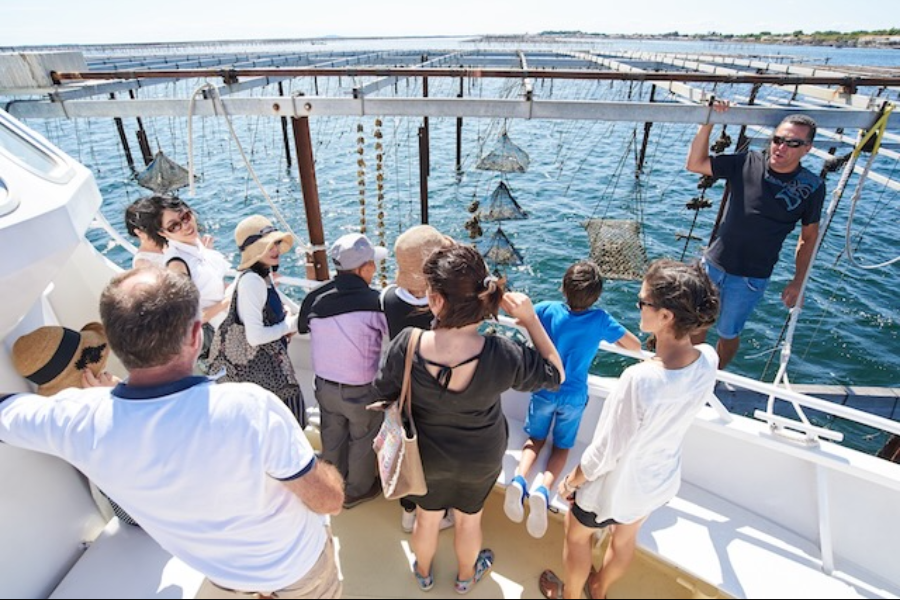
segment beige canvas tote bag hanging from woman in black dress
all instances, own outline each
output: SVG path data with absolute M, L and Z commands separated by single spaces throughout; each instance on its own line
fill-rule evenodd
M 421 336 L 421 329 L 413 329 L 406 348 L 403 385 L 400 398 L 384 411 L 384 422 L 372 447 L 378 459 L 381 489 L 388 500 L 404 496 L 421 496 L 428 492 L 425 472 L 419 456 L 416 424 L 412 418 L 412 359 Z M 404 426 L 404 416 L 407 425 Z

